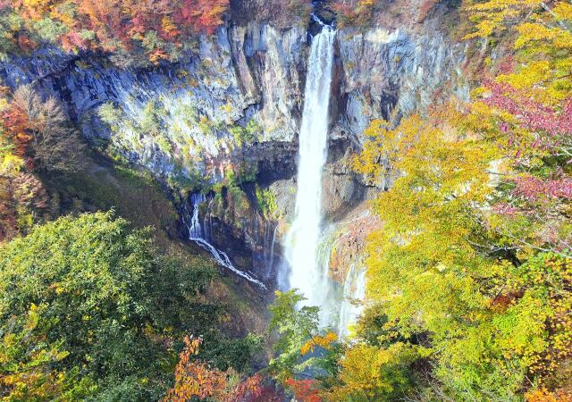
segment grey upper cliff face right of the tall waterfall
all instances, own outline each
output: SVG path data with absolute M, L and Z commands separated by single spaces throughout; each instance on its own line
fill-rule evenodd
M 438 30 L 342 29 L 339 38 L 339 94 L 334 133 L 347 132 L 362 143 L 363 130 L 375 118 L 423 112 L 450 93 L 467 98 L 461 75 L 465 54 Z

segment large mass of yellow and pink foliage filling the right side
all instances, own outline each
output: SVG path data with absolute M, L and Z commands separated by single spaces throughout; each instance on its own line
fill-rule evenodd
M 468 4 L 467 38 L 513 34 L 514 57 L 468 105 L 366 130 L 354 168 L 392 186 L 374 202 L 383 229 L 367 247 L 374 306 L 333 392 L 399 379 L 368 374 L 398 363 L 420 400 L 523 400 L 526 389 L 528 400 L 570 398 L 570 11 L 568 2 Z M 392 352 L 400 346 L 417 348 L 415 370 Z M 355 400 L 374 400 L 365 395 Z

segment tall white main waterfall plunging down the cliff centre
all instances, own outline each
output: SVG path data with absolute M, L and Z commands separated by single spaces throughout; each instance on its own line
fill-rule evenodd
M 310 49 L 299 134 L 296 213 L 285 245 L 290 289 L 299 289 L 307 297 L 307 306 L 321 306 L 323 310 L 332 285 L 317 252 L 322 233 L 322 171 L 327 156 L 334 38 L 335 30 L 324 26 Z

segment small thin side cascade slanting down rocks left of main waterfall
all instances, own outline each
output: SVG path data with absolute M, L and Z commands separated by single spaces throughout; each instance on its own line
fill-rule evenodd
M 266 289 L 265 284 L 261 281 L 258 281 L 253 275 L 248 272 L 240 271 L 231 263 L 231 259 L 229 256 L 224 253 L 222 250 L 216 249 L 212 244 L 210 244 L 207 240 L 207 234 L 204 232 L 202 226 L 200 225 L 200 221 L 198 219 L 198 207 L 206 200 L 205 196 L 196 193 L 190 196 L 190 202 L 193 205 L 193 213 L 190 215 L 190 222 L 187 224 L 187 228 L 189 229 L 189 240 L 194 241 L 198 244 L 199 247 L 204 248 L 208 251 L 211 255 L 214 256 L 216 262 L 222 265 L 224 268 L 230 270 L 231 272 L 236 273 L 240 277 L 250 281 L 252 283 L 257 284 L 263 289 Z M 186 207 L 186 206 L 185 206 Z

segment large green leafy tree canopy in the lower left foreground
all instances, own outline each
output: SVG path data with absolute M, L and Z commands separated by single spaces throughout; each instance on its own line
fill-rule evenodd
M 4 400 L 157 400 L 188 333 L 206 340 L 206 361 L 244 370 L 254 344 L 225 338 L 221 306 L 200 301 L 213 278 L 112 213 L 63 217 L 1 245 Z

